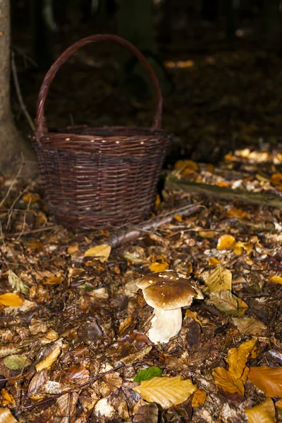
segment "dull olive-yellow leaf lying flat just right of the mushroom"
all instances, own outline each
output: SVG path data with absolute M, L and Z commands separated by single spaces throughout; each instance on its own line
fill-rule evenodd
M 209 302 L 219 311 L 226 314 L 243 314 L 248 308 L 247 304 L 237 298 L 230 290 L 220 290 L 209 295 Z

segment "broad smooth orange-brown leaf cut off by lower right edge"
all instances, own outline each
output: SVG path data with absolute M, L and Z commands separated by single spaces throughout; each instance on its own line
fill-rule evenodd
M 249 380 L 266 396 L 271 398 L 282 397 L 282 367 L 271 369 L 267 366 L 251 367 Z

